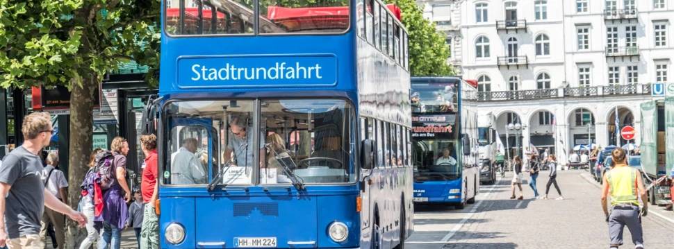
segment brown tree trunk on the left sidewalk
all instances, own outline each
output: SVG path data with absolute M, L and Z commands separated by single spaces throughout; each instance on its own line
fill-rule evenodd
M 69 187 L 68 202 L 76 209 L 82 196 L 81 183 L 88 171 L 89 155 L 93 141 L 93 110 L 94 94 L 98 85 L 98 76 L 95 74 L 82 78 L 82 87 L 75 80 L 71 80 L 72 93 L 70 95 L 70 141 L 69 141 Z M 73 249 L 86 237 L 87 230 L 80 228 L 77 223 L 66 218 L 65 247 Z

